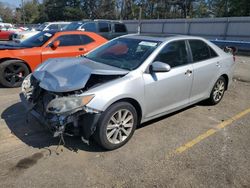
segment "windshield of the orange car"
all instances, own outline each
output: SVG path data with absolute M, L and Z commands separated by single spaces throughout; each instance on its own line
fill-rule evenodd
M 50 32 L 40 32 L 24 40 L 20 45 L 24 47 L 39 47 L 44 45 L 53 35 L 54 33 Z

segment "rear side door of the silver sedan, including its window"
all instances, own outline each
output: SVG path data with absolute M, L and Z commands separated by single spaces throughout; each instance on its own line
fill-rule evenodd
M 192 53 L 194 80 L 190 101 L 209 97 L 220 71 L 219 56 L 202 40 L 189 40 Z

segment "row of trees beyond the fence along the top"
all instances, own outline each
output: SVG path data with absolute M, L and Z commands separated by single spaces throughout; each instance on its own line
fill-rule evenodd
M 43 23 L 82 19 L 203 18 L 250 16 L 249 0 L 31 0 L 16 10 L 0 3 L 4 22 Z

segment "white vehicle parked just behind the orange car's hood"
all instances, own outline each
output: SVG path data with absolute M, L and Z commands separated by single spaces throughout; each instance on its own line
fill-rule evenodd
M 31 30 L 31 31 L 23 31 L 18 32 L 13 35 L 13 40 L 15 42 L 22 42 L 25 39 L 28 39 L 41 31 L 49 31 L 49 30 L 56 30 L 61 31 L 63 27 L 70 24 L 70 22 L 45 22 L 42 25 L 40 25 L 37 30 Z

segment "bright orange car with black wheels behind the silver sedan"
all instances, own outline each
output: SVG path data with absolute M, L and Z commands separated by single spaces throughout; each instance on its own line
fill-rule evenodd
M 85 54 L 107 40 L 83 31 L 43 31 L 20 44 L 0 45 L 0 84 L 19 87 L 23 79 L 48 58 Z

